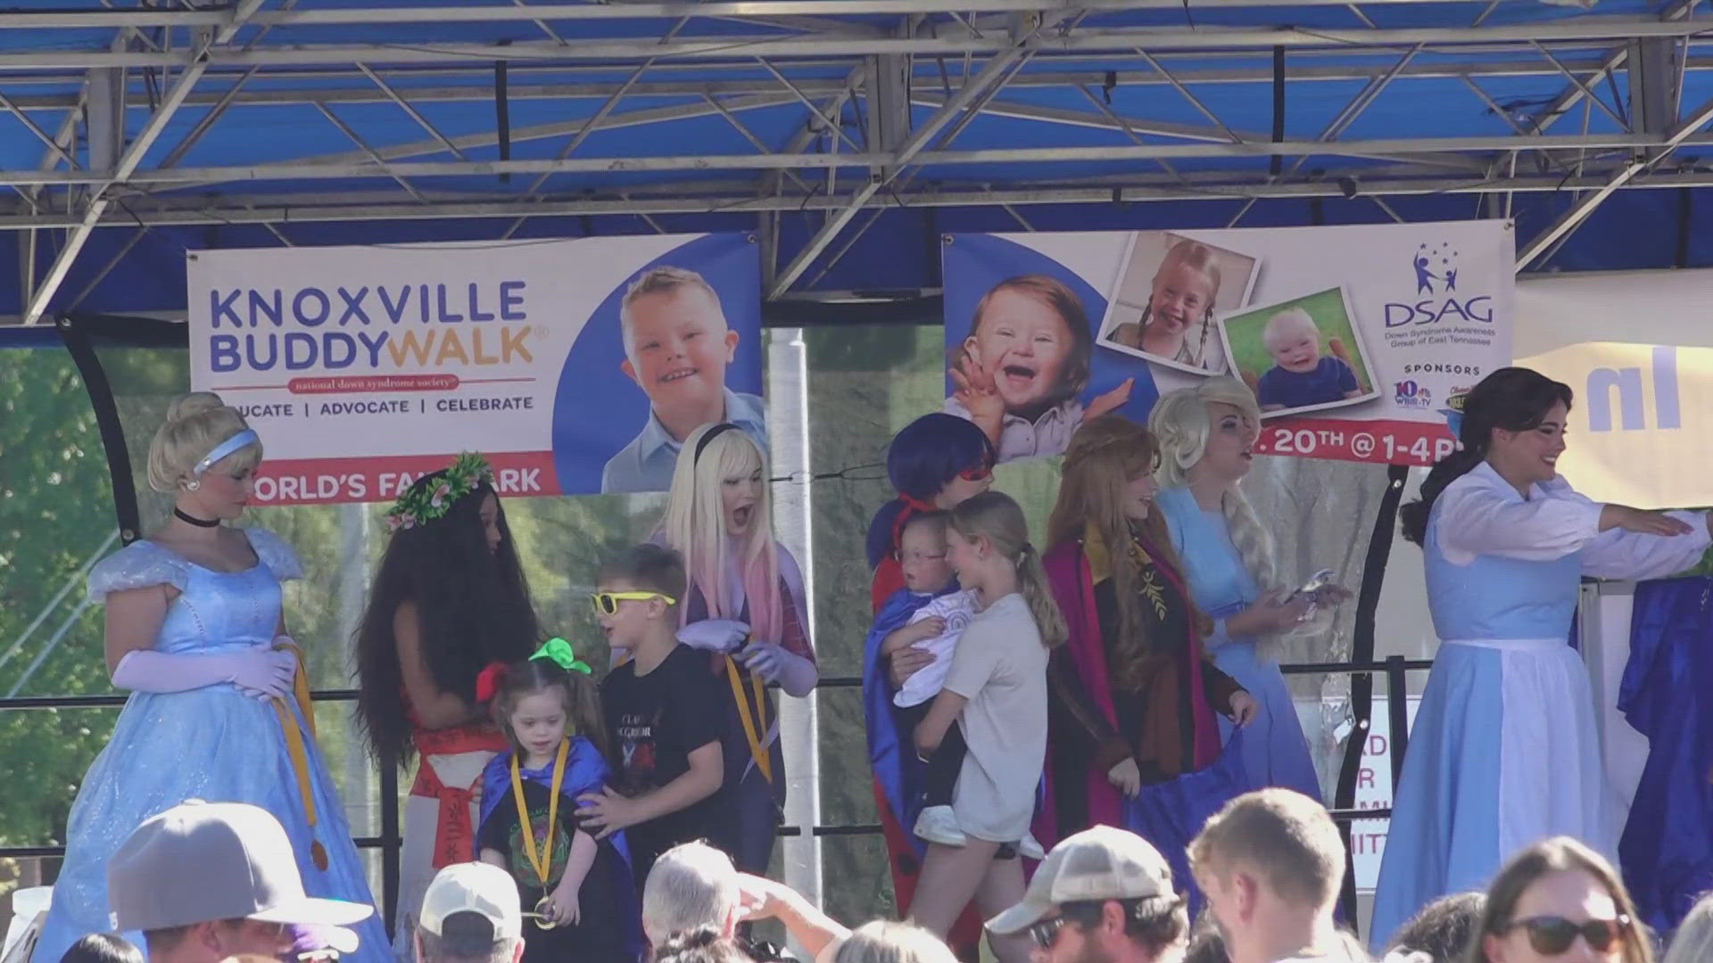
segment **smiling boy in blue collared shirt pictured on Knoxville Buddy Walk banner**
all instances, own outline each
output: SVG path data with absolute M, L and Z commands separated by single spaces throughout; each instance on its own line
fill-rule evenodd
M 601 471 L 601 492 L 665 492 L 678 447 L 695 428 L 731 422 L 767 451 L 767 408 L 726 387 L 738 332 L 695 271 L 660 266 L 630 283 L 620 307 L 620 370 L 648 394 L 648 423 Z

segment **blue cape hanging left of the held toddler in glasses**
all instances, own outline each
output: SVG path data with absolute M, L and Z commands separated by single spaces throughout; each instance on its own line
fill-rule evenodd
M 880 643 L 910 622 L 918 608 L 951 591 L 958 591 L 956 583 L 939 595 L 918 595 L 908 588 L 894 591 L 874 617 L 874 627 L 868 629 L 868 641 L 862 651 L 862 706 L 868 721 L 868 763 L 916 857 L 928 852 L 928 845 L 913 833 L 916 816 L 922 812 L 925 766 L 916 759 L 915 735 L 899 732 L 894 715 L 898 706 L 892 704 L 892 682 L 887 679 L 886 660 L 880 658 Z

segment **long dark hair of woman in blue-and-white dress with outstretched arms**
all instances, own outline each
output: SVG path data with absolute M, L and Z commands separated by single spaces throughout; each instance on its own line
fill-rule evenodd
M 1533 368 L 1499 368 L 1483 377 L 1463 399 L 1463 423 L 1458 427 L 1461 449 L 1439 459 L 1422 482 L 1422 497 L 1398 509 L 1403 536 L 1425 545 L 1427 512 L 1434 499 L 1487 458 L 1494 428 L 1526 432 L 1538 428 L 1554 404 L 1571 406 L 1571 386 L 1555 382 Z

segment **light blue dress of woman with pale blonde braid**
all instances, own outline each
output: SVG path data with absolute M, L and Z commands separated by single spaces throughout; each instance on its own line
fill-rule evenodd
M 1206 649 L 1220 672 L 1230 675 L 1256 697 L 1259 711 L 1244 727 L 1244 775 L 1250 787 L 1283 787 L 1310 799 L 1321 799 L 1321 778 L 1314 771 L 1309 740 L 1297 720 L 1285 675 L 1271 658 L 1256 651 L 1250 637 L 1232 637 L 1225 620 L 1261 596 L 1244 557 L 1232 543 L 1225 516 L 1196 504 L 1189 488 L 1161 488 L 1155 495 L 1172 536 L 1172 548 L 1184 564 L 1196 607 L 1215 620 Z M 1232 720 L 1220 718 L 1220 739 L 1232 740 Z

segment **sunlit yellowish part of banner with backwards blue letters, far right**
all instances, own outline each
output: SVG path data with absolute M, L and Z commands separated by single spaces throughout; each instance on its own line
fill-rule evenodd
M 1706 305 L 1684 305 L 1708 314 Z M 1519 358 L 1576 392 L 1559 471 L 1597 502 L 1713 505 L 1713 348 L 1588 341 Z

